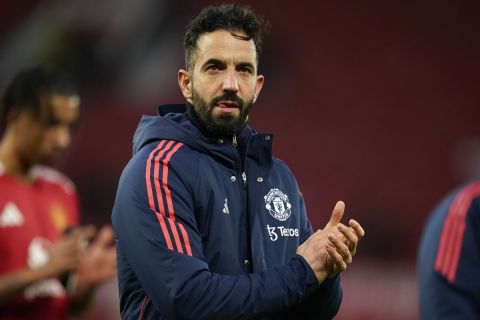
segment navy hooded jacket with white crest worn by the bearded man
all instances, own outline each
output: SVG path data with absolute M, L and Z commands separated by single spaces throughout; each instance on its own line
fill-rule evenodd
M 339 277 L 318 284 L 296 249 L 312 233 L 270 134 L 209 137 L 185 106 L 143 116 L 112 214 L 123 319 L 330 319 Z

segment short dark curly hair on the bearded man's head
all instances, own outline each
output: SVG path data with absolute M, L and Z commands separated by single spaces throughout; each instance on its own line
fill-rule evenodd
M 192 71 L 195 65 L 194 55 L 200 36 L 216 30 L 245 33 L 246 37 L 235 36 L 247 41 L 253 40 L 258 63 L 262 52 L 262 38 L 266 29 L 267 25 L 263 19 L 257 17 L 248 6 L 222 4 L 206 7 L 186 27 L 183 48 L 187 70 Z

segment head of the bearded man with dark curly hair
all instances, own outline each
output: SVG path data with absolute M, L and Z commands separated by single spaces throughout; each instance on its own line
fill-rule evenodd
M 178 81 L 210 134 L 237 134 L 262 89 L 258 75 L 264 25 L 247 7 L 208 7 L 187 26 L 186 70 Z

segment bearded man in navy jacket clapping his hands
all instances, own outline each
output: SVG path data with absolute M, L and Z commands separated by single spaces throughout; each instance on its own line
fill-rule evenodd
M 124 319 L 330 319 L 361 226 L 337 203 L 312 235 L 270 134 L 247 125 L 262 24 L 236 5 L 187 27 L 186 105 L 144 116 L 113 209 Z

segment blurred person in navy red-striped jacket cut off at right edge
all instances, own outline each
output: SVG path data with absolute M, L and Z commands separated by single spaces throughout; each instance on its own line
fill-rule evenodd
M 422 319 L 480 319 L 480 181 L 458 188 L 433 211 L 417 268 Z

